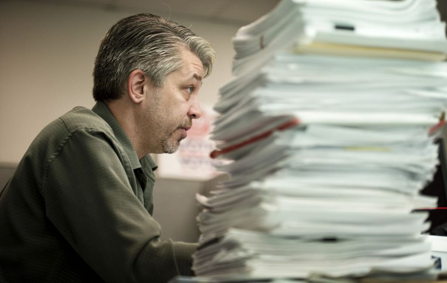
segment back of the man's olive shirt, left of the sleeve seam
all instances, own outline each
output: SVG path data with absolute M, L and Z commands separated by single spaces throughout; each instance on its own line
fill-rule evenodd
M 4 274 L 0 273 L 2 282 L 71 282 L 72 276 L 101 280 L 45 215 L 46 206 L 51 205 L 44 197 L 48 170 L 73 131 L 65 121 L 72 128 L 94 125 L 112 133 L 93 111 L 76 107 L 47 125 L 34 139 L 0 198 L 0 266 L 6 267 Z M 79 279 L 74 282 L 84 281 Z

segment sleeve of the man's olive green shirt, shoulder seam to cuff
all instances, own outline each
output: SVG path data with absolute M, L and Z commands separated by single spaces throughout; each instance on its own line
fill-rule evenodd
M 160 240 L 160 225 L 132 192 L 122 149 L 78 129 L 48 165 L 46 216 L 105 282 L 166 282 L 192 275 L 197 244 Z

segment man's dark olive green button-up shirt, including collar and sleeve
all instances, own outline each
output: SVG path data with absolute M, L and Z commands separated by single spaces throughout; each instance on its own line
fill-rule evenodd
M 104 103 L 51 122 L 0 197 L 0 282 L 148 283 L 192 275 L 197 245 L 159 239 L 156 167 L 149 155 L 138 159 Z

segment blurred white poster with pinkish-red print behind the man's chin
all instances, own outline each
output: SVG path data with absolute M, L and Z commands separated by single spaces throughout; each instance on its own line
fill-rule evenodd
M 156 174 L 163 178 L 208 180 L 218 175 L 214 164 L 218 160 L 210 158 L 215 142 L 210 140 L 212 123 L 216 117 L 210 105 L 201 105 L 202 116 L 193 120 L 188 137 L 183 139 L 177 152 L 157 154 Z

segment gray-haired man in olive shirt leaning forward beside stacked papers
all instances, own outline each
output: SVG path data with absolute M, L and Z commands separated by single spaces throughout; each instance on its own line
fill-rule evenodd
M 149 153 L 172 153 L 200 117 L 211 45 L 139 14 L 101 41 L 92 110 L 34 139 L 0 197 L 0 282 L 166 282 L 192 275 L 196 244 L 161 241 Z

